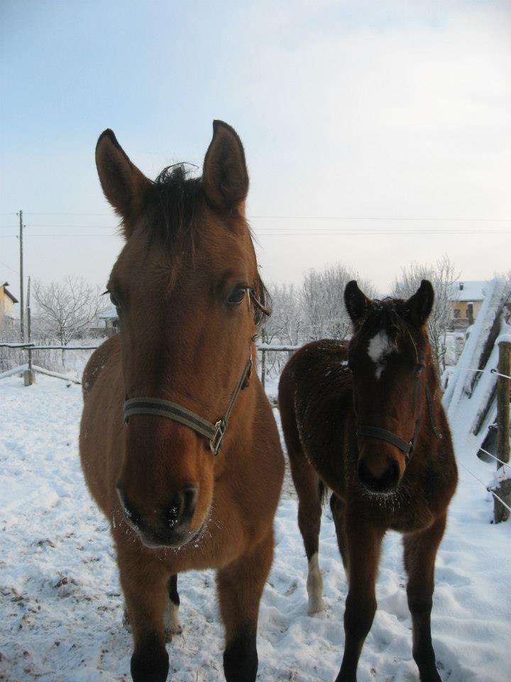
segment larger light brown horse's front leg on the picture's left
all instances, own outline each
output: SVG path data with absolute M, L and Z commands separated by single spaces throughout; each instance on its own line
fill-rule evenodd
M 168 573 L 161 565 L 122 556 L 119 575 L 133 633 L 133 682 L 165 682 L 169 669 L 164 616 L 168 602 Z

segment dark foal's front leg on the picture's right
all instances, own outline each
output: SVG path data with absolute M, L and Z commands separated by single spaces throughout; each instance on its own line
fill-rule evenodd
M 408 573 L 408 607 L 413 623 L 413 656 L 422 682 L 440 682 L 431 639 L 431 610 L 436 551 L 444 535 L 446 517 L 436 519 L 426 531 L 405 536 Z

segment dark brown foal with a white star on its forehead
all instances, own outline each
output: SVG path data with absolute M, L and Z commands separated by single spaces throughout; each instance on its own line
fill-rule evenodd
M 298 493 L 309 575 L 309 613 L 324 608 L 318 563 L 322 497 L 349 581 L 346 642 L 336 682 L 355 682 L 376 611 L 380 545 L 404 535 L 413 655 L 422 682 L 440 682 L 431 638 L 434 562 L 457 482 L 456 461 L 425 324 L 433 288 L 408 301 L 370 301 L 346 286 L 353 337 L 297 351 L 279 386 L 282 428 Z

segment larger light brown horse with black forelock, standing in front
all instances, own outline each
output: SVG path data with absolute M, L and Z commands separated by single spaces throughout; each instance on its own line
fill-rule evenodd
M 245 217 L 245 155 L 230 126 L 213 128 L 202 178 L 179 165 L 148 180 L 110 130 L 96 150 L 126 244 L 108 283 L 120 332 L 84 372 L 80 455 L 111 523 L 135 682 L 167 678 L 176 575 L 190 569 L 217 569 L 226 680 L 253 682 L 258 669 L 284 462 L 252 371 L 268 309 Z

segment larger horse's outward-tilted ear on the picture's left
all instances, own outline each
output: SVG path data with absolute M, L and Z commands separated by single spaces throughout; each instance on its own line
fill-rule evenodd
M 125 236 L 129 237 L 128 224 L 141 212 L 151 182 L 131 163 L 110 129 L 97 141 L 96 166 L 104 195 L 123 218 Z

